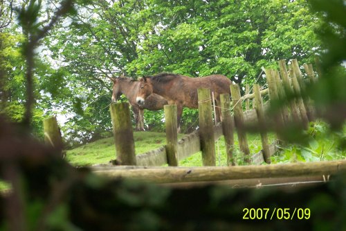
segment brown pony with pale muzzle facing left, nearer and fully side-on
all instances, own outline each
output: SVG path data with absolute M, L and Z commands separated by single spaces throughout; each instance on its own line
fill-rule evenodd
M 136 97 L 139 105 L 145 104 L 151 94 L 158 94 L 175 104 L 177 109 L 178 127 L 183 107 L 198 108 L 197 89 L 200 87 L 214 92 L 216 105 L 220 105 L 220 94 L 230 94 L 231 80 L 226 76 L 212 75 L 201 78 L 190 78 L 178 74 L 162 73 L 156 76 L 140 78 L 140 91 Z M 220 118 L 220 108 L 217 117 Z

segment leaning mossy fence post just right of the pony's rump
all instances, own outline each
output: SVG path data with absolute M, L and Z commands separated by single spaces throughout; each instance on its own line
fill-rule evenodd
M 245 161 L 250 164 L 250 150 L 248 149 L 248 140 L 246 139 L 246 132 L 244 131 L 244 115 L 242 101 L 240 100 L 239 85 L 230 85 L 230 94 L 232 95 L 233 110 L 235 114 L 235 127 L 237 128 L 239 147 L 244 153 Z

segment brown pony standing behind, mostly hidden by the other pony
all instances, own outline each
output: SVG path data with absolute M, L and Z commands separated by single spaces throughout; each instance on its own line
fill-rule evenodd
M 147 98 L 144 105 L 138 105 L 136 103 L 136 96 L 140 89 L 140 83 L 138 81 L 125 77 L 111 78 L 111 80 L 113 82 L 111 101 L 116 102 L 121 94 L 125 94 L 134 112 L 136 130 L 144 130 L 144 109 L 152 111 L 160 110 L 163 108 L 163 105 L 168 104 L 167 100 L 163 97 L 152 94 Z

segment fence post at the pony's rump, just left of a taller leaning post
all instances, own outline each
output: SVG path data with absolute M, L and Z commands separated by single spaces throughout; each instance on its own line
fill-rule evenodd
M 222 115 L 222 132 L 224 134 L 226 154 L 227 154 L 227 165 L 235 165 L 233 159 L 233 147 L 235 139 L 233 137 L 233 121 L 230 114 L 230 95 L 221 94 L 221 115 Z

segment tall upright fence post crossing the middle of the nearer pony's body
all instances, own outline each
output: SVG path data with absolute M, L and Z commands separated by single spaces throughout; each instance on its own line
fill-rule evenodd
M 215 137 L 210 89 L 198 89 L 198 110 L 203 166 L 215 166 Z

